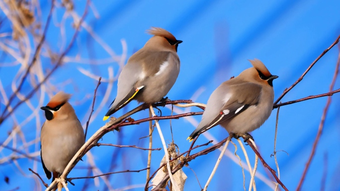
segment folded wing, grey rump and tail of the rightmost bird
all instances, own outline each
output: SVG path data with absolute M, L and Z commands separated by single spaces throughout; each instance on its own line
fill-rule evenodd
M 221 84 L 211 94 L 202 121 L 187 139 L 192 140 L 198 134 L 256 105 L 259 102 L 260 93 L 261 86 L 251 82 L 235 85 Z

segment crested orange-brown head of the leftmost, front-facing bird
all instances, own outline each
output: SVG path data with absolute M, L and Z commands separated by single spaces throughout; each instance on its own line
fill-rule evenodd
M 54 95 L 45 107 L 40 108 L 45 111 L 46 120 L 51 121 L 55 118 L 65 119 L 69 116 L 70 112 L 74 113 L 74 109 L 68 103 L 70 98 L 71 94 L 64 93 L 63 91 Z

